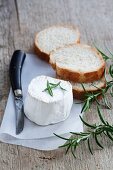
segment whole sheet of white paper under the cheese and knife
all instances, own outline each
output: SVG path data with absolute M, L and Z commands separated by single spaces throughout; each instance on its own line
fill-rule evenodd
M 24 99 L 27 93 L 28 84 L 38 75 L 55 77 L 55 72 L 48 63 L 41 61 L 33 54 L 27 54 L 22 70 L 22 89 Z M 81 104 L 75 104 L 75 102 L 76 101 L 74 101 L 71 114 L 67 120 L 54 125 L 38 126 L 25 117 L 24 130 L 19 135 L 16 135 L 14 97 L 12 90 L 10 90 L 0 129 L 1 141 L 35 149 L 56 149 L 58 144 L 63 144 L 65 141 L 54 137 L 53 133 L 59 135 L 65 134 L 69 137 L 70 135 L 68 133 L 70 131 L 83 131 L 82 122 L 79 118 L 82 106 Z M 48 142 L 50 144 L 48 144 Z

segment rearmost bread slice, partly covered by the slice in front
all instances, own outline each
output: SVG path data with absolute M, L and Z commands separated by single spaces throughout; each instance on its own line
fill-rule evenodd
M 52 26 L 36 34 L 34 45 L 37 55 L 41 59 L 49 61 L 52 50 L 79 42 L 80 33 L 77 27 Z

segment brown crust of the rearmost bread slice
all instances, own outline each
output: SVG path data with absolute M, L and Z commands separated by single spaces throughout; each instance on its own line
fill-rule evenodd
M 46 31 L 47 29 L 54 28 L 54 27 L 67 27 L 67 28 L 71 28 L 72 30 L 75 30 L 77 32 L 77 34 L 78 34 L 78 39 L 77 39 L 77 41 L 75 41 L 75 44 L 76 43 L 80 43 L 80 32 L 79 32 L 79 29 L 76 26 L 73 26 L 73 25 L 63 25 L 63 24 L 61 24 L 61 25 L 54 25 L 54 26 L 51 26 L 51 27 L 48 27 L 48 28 L 44 29 L 43 31 Z M 40 49 L 39 46 L 38 46 L 37 37 L 38 37 L 39 33 L 37 33 L 36 36 L 35 36 L 34 50 L 35 50 L 36 54 L 38 55 L 38 57 L 40 59 L 49 62 L 49 55 L 50 55 L 50 53 L 48 54 L 48 53 L 43 52 L 43 50 Z

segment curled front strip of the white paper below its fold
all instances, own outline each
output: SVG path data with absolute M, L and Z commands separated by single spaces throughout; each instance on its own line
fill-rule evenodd
M 71 134 L 62 135 L 65 138 L 70 138 Z M 0 140 L 4 143 L 21 145 L 32 149 L 38 150 L 55 150 L 58 149 L 59 146 L 63 145 L 66 141 L 60 139 L 56 136 L 43 138 L 43 139 L 17 139 L 8 134 L 4 134 L 0 131 Z

